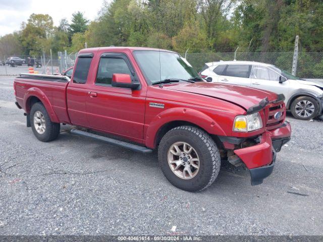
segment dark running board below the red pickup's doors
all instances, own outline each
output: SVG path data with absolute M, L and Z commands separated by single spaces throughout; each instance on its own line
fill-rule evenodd
M 92 139 L 95 139 L 95 140 L 103 141 L 105 143 L 109 143 L 109 144 L 112 144 L 112 145 L 118 145 L 118 146 L 121 146 L 123 148 L 127 148 L 129 150 L 141 152 L 141 153 L 144 153 L 144 154 L 148 154 L 148 153 L 152 152 L 151 149 L 148 149 L 146 147 L 130 144 L 130 143 L 120 141 L 120 140 L 107 138 L 105 136 L 95 135 L 95 134 L 88 133 L 88 132 L 81 131 L 81 130 L 77 130 L 77 129 L 72 129 L 71 133 L 74 134 L 74 135 L 81 135 L 81 136 L 89 137 L 89 138 L 92 138 Z

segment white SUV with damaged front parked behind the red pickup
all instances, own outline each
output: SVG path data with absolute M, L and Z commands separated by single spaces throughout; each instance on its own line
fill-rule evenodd
M 294 77 L 290 73 L 258 62 L 210 62 L 200 75 L 212 82 L 242 85 L 285 95 L 293 116 L 308 120 L 322 113 L 323 84 Z

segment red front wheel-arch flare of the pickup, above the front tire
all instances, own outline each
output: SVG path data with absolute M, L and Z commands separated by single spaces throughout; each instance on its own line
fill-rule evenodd
M 156 146 L 155 140 L 159 129 L 174 121 L 189 122 L 202 128 L 209 134 L 226 136 L 216 120 L 205 113 L 191 108 L 174 107 L 160 112 L 151 120 L 145 135 L 146 146 L 154 148 Z

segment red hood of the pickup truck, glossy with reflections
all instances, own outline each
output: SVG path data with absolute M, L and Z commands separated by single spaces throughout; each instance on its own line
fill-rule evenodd
M 165 85 L 164 88 L 218 98 L 235 103 L 246 110 L 251 106 L 258 105 L 265 97 L 267 97 L 270 102 L 277 100 L 277 94 L 273 92 L 222 83 L 179 83 L 175 85 Z

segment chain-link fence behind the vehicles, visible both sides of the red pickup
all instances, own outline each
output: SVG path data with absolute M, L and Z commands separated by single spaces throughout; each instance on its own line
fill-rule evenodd
M 185 53 L 181 53 L 185 56 Z M 28 72 L 26 55 L 14 55 L 25 60 L 22 66 L 11 67 L 6 64 L 11 56 L 0 56 L 0 75 L 19 75 Z M 36 62 L 41 67 L 34 67 L 39 74 L 58 74 L 63 73 L 68 68 L 74 66 L 77 53 L 60 51 L 55 55 L 42 55 L 36 57 Z M 188 62 L 199 71 L 205 63 L 218 61 L 233 61 L 234 52 L 203 52 L 187 53 Z M 293 51 L 286 52 L 237 52 L 237 61 L 253 61 L 273 64 L 280 69 L 292 72 Z M 296 76 L 305 79 L 323 79 L 323 52 L 299 52 L 297 61 Z

